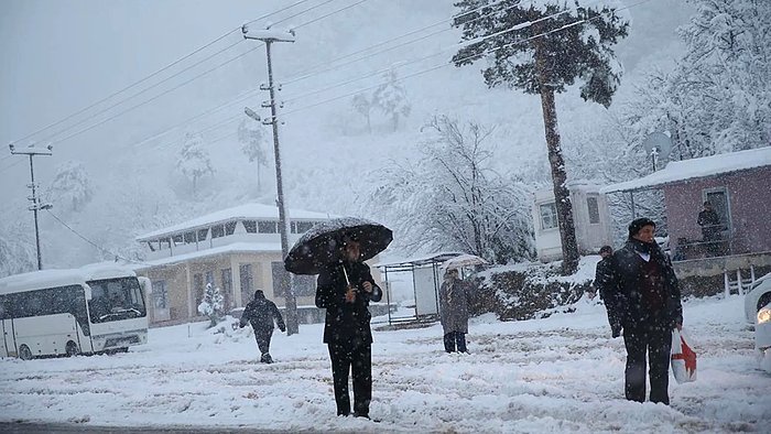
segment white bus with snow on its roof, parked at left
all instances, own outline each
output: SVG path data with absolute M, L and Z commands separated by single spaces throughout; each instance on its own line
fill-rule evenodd
M 0 357 L 111 354 L 146 344 L 151 291 L 146 278 L 110 263 L 0 279 Z

